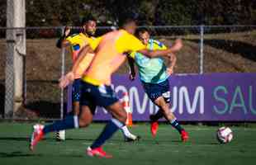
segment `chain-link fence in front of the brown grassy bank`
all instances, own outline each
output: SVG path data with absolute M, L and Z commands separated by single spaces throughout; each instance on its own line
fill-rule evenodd
M 141 27 L 139 27 L 141 28 Z M 171 46 L 182 38 L 184 47 L 177 54 L 175 73 L 255 73 L 256 26 L 146 26 L 152 38 Z M 98 27 L 96 35 L 112 31 Z M 0 29 L 0 118 L 4 115 L 7 60 L 6 28 Z M 66 91 L 58 79 L 72 66 L 69 50 L 55 44 L 63 27 L 27 27 L 24 60 L 24 106 L 19 119 L 60 119 L 65 111 Z M 80 31 L 73 28 L 73 33 Z M 127 43 L 129 44 L 129 43 Z M 128 64 L 118 73 L 127 73 Z M 11 73 L 10 73 L 11 74 Z M 12 74 L 11 74 L 12 75 Z M 7 98 L 8 99 L 8 98 Z

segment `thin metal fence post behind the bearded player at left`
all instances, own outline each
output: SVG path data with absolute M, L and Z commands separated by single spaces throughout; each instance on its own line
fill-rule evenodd
M 61 28 L 61 35 L 64 35 L 64 27 Z M 65 48 L 61 48 L 61 77 L 65 73 Z M 60 92 L 60 119 L 64 119 L 64 89 Z

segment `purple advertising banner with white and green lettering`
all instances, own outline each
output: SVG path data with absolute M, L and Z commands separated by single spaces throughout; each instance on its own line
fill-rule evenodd
M 173 75 L 169 82 L 170 111 L 178 120 L 256 121 L 256 73 Z M 128 75 L 114 75 L 112 83 L 119 97 L 123 92 L 129 93 L 133 120 L 149 120 L 149 114 L 158 111 L 146 96 L 139 79 L 130 82 Z M 110 117 L 106 110 L 97 107 L 94 120 Z

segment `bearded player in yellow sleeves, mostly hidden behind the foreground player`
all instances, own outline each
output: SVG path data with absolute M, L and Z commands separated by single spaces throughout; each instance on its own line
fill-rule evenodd
M 73 64 L 78 59 L 79 52 L 83 49 L 84 46 L 89 45 L 92 43 L 92 40 L 95 40 L 94 37 L 95 31 L 97 29 L 97 22 L 96 19 L 89 15 L 83 18 L 83 31 L 80 33 L 76 33 L 70 35 L 70 28 L 66 27 L 64 30 L 64 35 L 58 40 L 57 47 L 64 48 L 70 47 L 72 53 Z M 93 46 L 92 46 L 93 47 Z M 83 59 L 83 61 L 87 60 L 87 64 L 91 62 L 91 57 L 88 59 Z M 73 115 L 79 115 L 80 111 L 80 97 L 81 97 L 81 75 L 83 69 L 80 69 L 76 75 L 74 75 L 74 81 L 72 85 L 72 102 L 73 102 Z M 92 122 L 92 120 L 89 120 Z M 88 121 L 88 125 L 89 125 Z M 124 139 L 126 142 L 131 142 L 135 140 L 139 140 L 140 136 L 136 136 L 131 134 L 128 130 L 127 126 L 124 125 L 121 128 L 121 132 L 124 135 Z M 57 134 L 57 139 L 59 138 Z

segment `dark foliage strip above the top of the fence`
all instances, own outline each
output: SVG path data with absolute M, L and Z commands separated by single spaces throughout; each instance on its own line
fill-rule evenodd
M 0 26 L 6 24 L 6 1 L 0 1 Z M 26 26 L 79 26 L 92 13 L 102 26 L 139 15 L 143 25 L 254 25 L 251 0 L 26 0 Z

